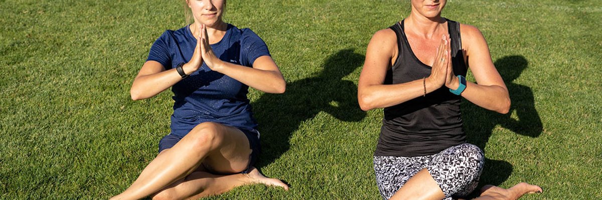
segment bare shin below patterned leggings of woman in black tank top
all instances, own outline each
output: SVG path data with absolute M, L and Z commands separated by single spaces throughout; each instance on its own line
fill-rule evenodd
M 390 200 L 398 199 L 443 199 L 445 194 L 439 184 L 425 168 L 410 178 L 406 184 L 391 196 Z

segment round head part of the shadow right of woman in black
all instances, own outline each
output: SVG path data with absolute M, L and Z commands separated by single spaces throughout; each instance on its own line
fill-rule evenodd
M 517 79 L 527 65 L 529 65 L 529 61 L 520 55 L 505 56 L 495 61 L 495 67 L 500 71 L 501 78 L 506 83 Z

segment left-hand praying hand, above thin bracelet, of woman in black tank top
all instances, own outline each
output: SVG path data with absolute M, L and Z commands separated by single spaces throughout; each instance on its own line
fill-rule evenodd
M 441 37 L 441 44 L 439 44 L 439 48 L 437 49 L 430 76 L 427 77 L 428 82 L 435 85 L 435 88 L 441 88 L 445 84 L 445 80 L 447 80 L 447 70 L 452 59 L 450 56 L 450 41 L 447 35 Z

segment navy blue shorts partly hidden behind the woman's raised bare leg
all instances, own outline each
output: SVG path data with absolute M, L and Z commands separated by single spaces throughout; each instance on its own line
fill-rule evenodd
M 249 174 L 249 172 L 251 172 L 251 167 L 255 165 L 255 162 L 257 162 L 257 159 L 259 158 L 259 153 L 261 153 L 261 143 L 259 143 L 259 132 L 257 130 L 238 130 L 240 130 L 244 133 L 245 136 L 247 136 L 247 139 L 249 139 L 249 146 L 251 147 L 251 150 L 253 150 L 251 155 L 249 156 L 249 165 L 247 166 L 247 169 L 241 172 L 243 174 Z M 172 148 L 173 145 L 176 145 L 176 143 L 178 143 L 181 139 L 181 136 L 176 136 L 171 133 L 169 135 L 164 136 L 161 139 L 161 141 L 159 141 L 159 153 L 168 148 Z

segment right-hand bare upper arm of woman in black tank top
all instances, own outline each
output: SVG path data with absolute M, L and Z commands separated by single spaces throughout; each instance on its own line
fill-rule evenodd
M 501 79 L 500 73 L 495 69 L 491 60 L 489 46 L 483 34 L 473 26 L 467 26 L 464 29 L 467 31 L 463 32 L 463 35 L 467 35 L 467 37 L 463 37 L 462 41 L 467 43 L 463 46 L 467 47 L 468 66 L 474 79 L 479 85 L 498 85 L 506 88 L 504 80 Z

